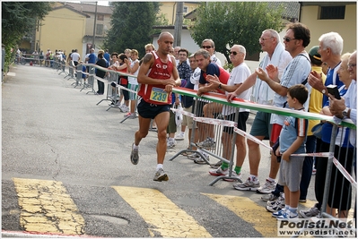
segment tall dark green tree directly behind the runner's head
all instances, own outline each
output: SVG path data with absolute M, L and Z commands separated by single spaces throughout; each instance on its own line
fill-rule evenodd
M 152 42 L 150 36 L 153 34 L 159 3 L 113 2 L 112 5 L 111 28 L 104 40 L 104 47 L 118 53 L 126 48 L 136 49 L 139 56 L 143 56 L 144 46 Z

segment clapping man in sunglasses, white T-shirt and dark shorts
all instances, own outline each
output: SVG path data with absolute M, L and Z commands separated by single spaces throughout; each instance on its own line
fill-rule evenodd
M 227 84 L 224 84 L 219 81 L 219 79 L 215 76 L 208 76 L 206 78 L 207 81 L 211 83 L 213 89 L 222 89 L 225 90 L 225 93 L 233 92 L 240 88 L 242 83 L 249 78 L 251 74 L 249 70 L 249 66 L 244 62 L 246 56 L 246 49 L 241 45 L 234 45 L 230 50 L 230 60 L 233 65 L 233 69 L 230 74 L 229 81 Z M 251 95 L 251 89 L 243 91 L 238 97 L 249 100 Z M 235 120 L 235 107 L 223 106 L 223 115 L 226 120 Z M 238 117 L 238 128 L 244 132 L 246 132 L 246 121 L 249 118 L 249 109 L 240 108 L 239 117 Z M 232 139 L 233 128 L 232 127 L 224 127 L 222 142 L 223 142 L 223 158 L 230 159 L 231 157 L 231 139 Z M 245 138 L 238 134 L 236 136 L 235 141 L 236 149 L 240 153 L 236 155 L 236 166 L 234 171 L 231 173 L 231 178 L 224 178 L 226 181 L 233 181 L 233 179 L 241 180 L 240 171 L 241 166 L 246 157 L 246 145 Z M 229 174 L 229 165 L 223 162 L 222 166 L 219 166 L 217 169 L 212 169 L 209 171 L 210 175 L 221 176 Z

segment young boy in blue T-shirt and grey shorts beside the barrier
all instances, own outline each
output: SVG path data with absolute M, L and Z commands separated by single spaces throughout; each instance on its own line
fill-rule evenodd
M 287 90 L 287 103 L 289 107 L 295 110 L 304 111 L 303 104 L 308 95 L 309 92 L 304 85 L 294 85 Z M 281 156 L 278 184 L 284 185 L 285 207 L 272 214 L 277 219 L 298 218 L 297 208 L 300 199 L 304 156 L 291 155 L 305 153 L 307 125 L 307 119 L 288 116 L 284 120 L 284 126 L 279 137 L 280 146 L 276 149 L 275 155 Z

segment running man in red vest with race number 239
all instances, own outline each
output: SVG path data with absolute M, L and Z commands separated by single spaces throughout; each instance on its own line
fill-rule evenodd
M 154 181 L 168 181 L 169 177 L 163 170 L 163 162 L 167 151 L 167 126 L 171 104 L 171 90 L 179 86 L 181 81 L 175 65 L 174 56 L 169 55 L 174 38 L 170 32 L 162 32 L 158 38 L 158 50 L 147 53 L 139 68 L 138 95 L 139 129 L 135 132 L 135 142 L 130 155 L 131 162 L 138 164 L 139 143 L 148 134 L 151 120 L 154 119 L 158 128 L 157 167 Z

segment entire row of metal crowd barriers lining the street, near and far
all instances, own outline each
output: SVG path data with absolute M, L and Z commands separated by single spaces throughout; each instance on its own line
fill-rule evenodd
M 53 64 L 55 65 L 54 69 L 57 69 L 57 71 L 65 72 L 65 68 L 62 68 L 64 66 L 63 63 L 54 61 Z M 88 73 L 83 72 L 83 66 L 89 67 Z M 74 65 L 70 65 L 69 67 L 74 68 Z M 104 79 L 95 76 L 95 69 L 100 69 L 102 71 L 107 72 L 107 76 Z M 96 91 L 94 90 L 95 81 L 101 81 L 105 85 L 107 85 L 107 92 L 105 94 L 105 98 L 100 100 L 97 105 L 99 105 L 102 101 L 111 101 L 115 105 L 116 103 L 118 103 L 118 98 L 121 94 L 120 90 L 128 90 L 132 91 L 133 93 L 137 93 L 137 91 L 129 90 L 126 87 L 120 86 L 119 84 L 116 84 L 116 90 L 113 90 L 111 86 L 111 82 L 118 82 L 118 77 L 120 75 L 136 77 L 132 74 L 119 73 L 113 70 L 102 68 L 95 64 L 78 64 L 76 66 L 75 73 L 75 86 L 81 85 L 83 80 L 83 74 L 86 75 L 86 82 L 83 82 L 83 89 L 91 88 L 91 90 L 88 91 L 87 94 L 90 92 L 96 94 Z M 68 74 L 72 76 L 71 70 L 69 70 Z M 81 89 L 80 91 L 82 91 L 83 89 Z M 245 139 L 255 141 L 266 149 L 272 150 L 271 147 L 269 145 L 266 145 L 263 141 L 258 141 L 255 137 L 249 135 L 248 132 L 243 132 L 238 128 L 236 122 L 238 122 L 239 108 L 262 111 L 276 115 L 287 115 L 297 118 L 326 121 L 330 124 L 333 124 L 331 141 L 327 152 L 300 154 L 300 156 L 311 156 L 315 157 L 316 160 L 324 160 L 327 165 L 326 175 L 324 177 L 323 201 L 319 216 L 324 218 L 332 218 L 333 216 L 336 216 L 333 213 L 333 209 L 328 212 L 326 211 L 327 206 L 329 205 L 331 205 L 329 206 L 330 208 L 334 208 L 332 206 L 335 206 L 337 204 L 337 201 L 339 204 L 339 211 L 341 212 L 345 209 L 350 208 L 352 201 L 354 201 L 353 205 L 355 205 L 355 191 L 357 183 L 354 179 L 354 176 L 356 175 L 353 176 L 353 171 L 355 172 L 356 148 L 354 146 L 350 147 L 349 149 L 344 149 L 345 147 L 343 147 L 342 141 L 336 141 L 337 129 L 339 129 L 338 133 L 343 133 L 346 129 L 350 129 L 350 134 L 356 131 L 356 125 L 352 120 L 345 119 L 340 124 L 336 124 L 333 116 L 313 114 L 310 112 L 301 112 L 288 108 L 260 105 L 250 102 L 249 100 L 243 100 L 240 98 L 234 98 L 231 102 L 228 102 L 223 94 L 218 93 L 205 93 L 202 97 L 199 98 L 196 95 L 196 90 L 176 87 L 173 89 L 173 92 L 178 93 L 179 95 L 192 97 L 195 99 L 195 103 L 192 112 L 185 111 L 184 109 L 171 108 L 173 112 L 179 111 L 182 115 L 187 115 L 188 117 L 191 117 L 193 119 L 193 124 L 191 125 L 192 133 L 191 138 L 189 140 L 188 149 L 180 150 L 178 153 L 176 153 L 173 157 L 169 159 L 170 161 L 174 160 L 175 158 L 179 157 L 184 153 L 197 153 L 204 164 L 209 164 L 209 160 L 207 158 L 207 155 L 209 155 L 229 164 L 229 175 L 222 175 L 215 178 L 214 181 L 210 183 L 210 185 L 214 185 L 217 181 L 222 179 L 227 181 L 238 180 L 237 177 L 231 175 L 232 166 L 234 165 L 235 154 L 237 155 L 238 153 L 236 149 L 238 135 L 240 135 L 240 137 L 244 137 Z M 227 112 L 225 112 L 225 110 L 223 111 L 223 107 L 226 108 L 227 112 L 235 113 L 235 117 L 231 117 L 228 120 L 228 115 L 231 114 L 226 114 Z M 109 110 L 109 108 L 107 109 L 107 111 Z M 123 120 L 122 122 L 124 121 L 125 120 Z M 208 140 L 209 138 L 211 140 Z M 207 140 L 207 144 L 199 143 L 205 142 L 205 140 Z M 197 151 L 196 149 L 200 150 Z M 348 192 L 349 195 L 347 195 L 346 192 Z M 348 200 L 346 200 L 347 197 L 349 198 Z M 342 201 L 345 201 L 345 205 L 342 205 Z

